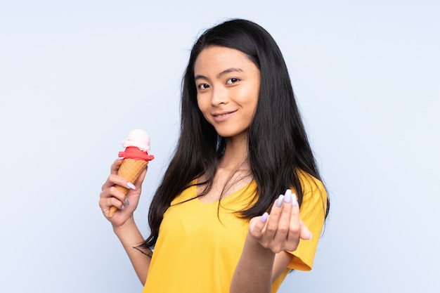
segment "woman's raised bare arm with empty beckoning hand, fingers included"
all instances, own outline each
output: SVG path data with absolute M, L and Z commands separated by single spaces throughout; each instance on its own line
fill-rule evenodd
M 231 293 L 271 292 L 272 282 L 287 268 L 299 239 L 311 233 L 299 219 L 295 195 L 287 190 L 273 204 L 270 216 L 251 219 L 240 260 L 231 282 Z

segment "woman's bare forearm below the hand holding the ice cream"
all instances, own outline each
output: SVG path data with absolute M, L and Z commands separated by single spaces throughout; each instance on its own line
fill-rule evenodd
M 131 218 L 123 226 L 115 227 L 113 230 L 127 252 L 139 280 L 142 285 L 145 285 L 152 252 L 150 249 L 138 247 L 144 239 L 136 223 L 134 223 L 134 219 Z

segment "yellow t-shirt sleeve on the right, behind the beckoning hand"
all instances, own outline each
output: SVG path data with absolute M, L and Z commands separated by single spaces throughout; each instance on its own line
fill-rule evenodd
M 323 183 L 310 175 L 300 175 L 300 179 L 304 196 L 299 209 L 299 217 L 309 228 L 313 237 L 311 240 L 299 240 L 295 252 L 289 252 L 293 254 L 293 258 L 287 267 L 299 271 L 310 271 L 324 225 L 327 192 Z

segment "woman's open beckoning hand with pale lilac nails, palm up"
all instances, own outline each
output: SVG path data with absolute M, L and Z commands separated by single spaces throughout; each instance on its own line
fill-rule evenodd
M 299 239 L 311 240 L 311 232 L 299 219 L 299 205 L 296 195 L 289 189 L 280 195 L 271 209 L 250 220 L 249 234 L 262 247 L 273 253 L 293 252 L 299 245 Z

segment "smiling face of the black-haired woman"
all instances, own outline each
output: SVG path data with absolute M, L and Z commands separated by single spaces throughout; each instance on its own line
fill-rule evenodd
M 203 49 L 194 64 L 197 102 L 220 136 L 246 134 L 257 108 L 260 72 L 241 51 Z

